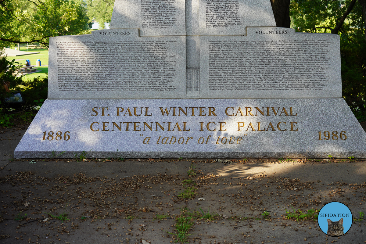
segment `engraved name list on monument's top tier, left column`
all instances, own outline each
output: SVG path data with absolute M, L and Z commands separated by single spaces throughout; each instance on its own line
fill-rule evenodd
M 175 0 L 141 0 L 141 27 L 168 28 L 176 23 Z

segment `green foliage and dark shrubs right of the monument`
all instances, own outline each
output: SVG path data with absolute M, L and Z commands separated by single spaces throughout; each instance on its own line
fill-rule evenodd
M 366 121 L 365 1 L 292 0 L 290 5 L 296 31 L 340 35 L 343 98 L 359 121 Z

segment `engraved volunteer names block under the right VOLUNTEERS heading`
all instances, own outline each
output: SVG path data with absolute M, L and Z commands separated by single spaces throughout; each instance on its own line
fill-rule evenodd
M 322 90 L 325 40 L 209 41 L 209 90 Z

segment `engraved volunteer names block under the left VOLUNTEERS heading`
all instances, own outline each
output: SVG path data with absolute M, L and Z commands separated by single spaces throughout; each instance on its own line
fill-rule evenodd
M 56 42 L 59 91 L 175 90 L 175 41 Z

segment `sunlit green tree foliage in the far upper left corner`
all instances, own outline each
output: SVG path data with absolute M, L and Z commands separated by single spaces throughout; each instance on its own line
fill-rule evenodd
M 81 0 L 0 0 L 0 41 L 39 42 L 49 37 L 83 34 L 89 30 L 86 7 Z

